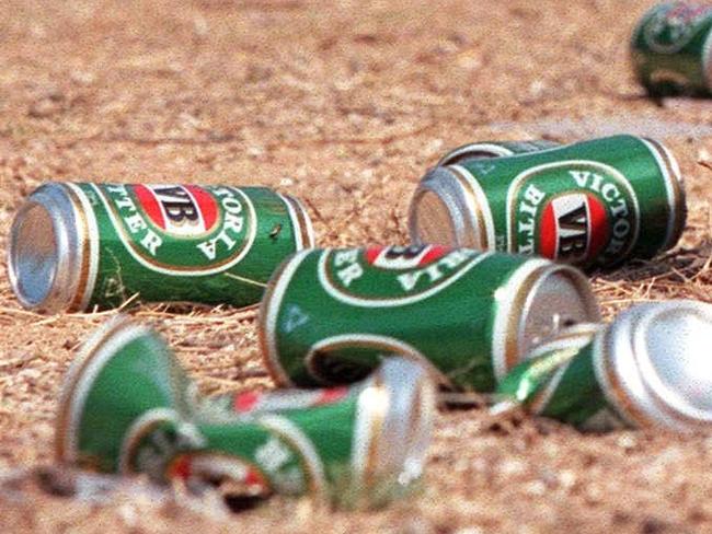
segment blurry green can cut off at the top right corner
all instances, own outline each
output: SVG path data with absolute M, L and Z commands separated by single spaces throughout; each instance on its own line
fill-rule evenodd
M 712 86 L 712 5 L 664 2 L 633 33 L 635 74 L 648 93 L 709 95 Z

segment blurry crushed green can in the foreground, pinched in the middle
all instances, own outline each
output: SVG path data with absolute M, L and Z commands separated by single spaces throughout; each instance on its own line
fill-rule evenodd
M 427 372 L 400 358 L 319 406 L 237 415 L 194 402 L 194 385 L 152 330 L 110 322 L 65 381 L 56 457 L 158 483 L 228 484 L 233 495 L 380 504 L 420 478 L 435 411 Z

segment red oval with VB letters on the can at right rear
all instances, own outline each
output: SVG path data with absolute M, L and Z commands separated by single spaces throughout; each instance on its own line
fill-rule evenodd
M 594 195 L 555 197 L 541 217 L 541 255 L 562 262 L 596 256 L 608 242 L 606 207 Z

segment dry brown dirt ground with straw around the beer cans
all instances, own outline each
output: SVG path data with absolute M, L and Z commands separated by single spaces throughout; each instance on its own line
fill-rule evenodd
M 404 243 L 410 195 L 448 148 L 632 131 L 678 156 L 690 217 L 655 262 L 596 276 L 607 317 L 712 300 L 712 101 L 645 98 L 628 0 L 417 2 L 5 0 L 0 19 L 0 252 L 46 181 L 264 184 L 308 201 L 319 243 Z M 0 265 L 1 532 L 712 532 L 712 433 L 583 436 L 543 420 L 443 415 L 416 497 L 242 513 L 143 483 L 48 469 L 57 393 L 112 315 L 39 316 Z M 253 313 L 134 310 L 208 392 L 269 386 Z M 92 490 L 93 488 L 93 490 Z

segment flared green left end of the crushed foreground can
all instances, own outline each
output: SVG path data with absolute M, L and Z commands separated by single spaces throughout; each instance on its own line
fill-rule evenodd
M 82 345 L 65 375 L 55 427 L 59 463 L 124 469 L 138 426 L 179 425 L 191 413 L 190 381 L 163 339 L 118 317 Z

